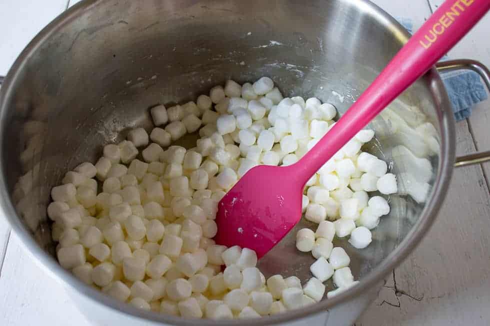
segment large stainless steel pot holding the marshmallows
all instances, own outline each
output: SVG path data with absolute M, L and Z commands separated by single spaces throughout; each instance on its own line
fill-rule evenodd
M 361 0 L 82 1 L 29 43 L 1 88 L 3 213 L 32 257 L 96 323 L 248 325 L 142 312 L 82 284 L 53 256 L 45 214 L 50 188 L 77 163 L 94 161 L 102 145 L 123 139 L 126 129 L 150 128 L 148 107 L 195 99 L 230 77 L 245 82 L 268 75 L 284 94 L 316 96 L 341 114 L 408 37 L 393 18 Z M 457 64 L 485 73 L 474 62 L 445 67 Z M 401 192 L 390 196 L 391 213 L 374 230 L 373 243 L 349 251 L 361 282 L 254 324 L 350 325 L 432 224 L 454 163 L 452 112 L 435 69 L 371 126 L 377 136 L 366 149 L 390 163 Z M 410 153 L 428 162 L 424 171 Z M 413 180 L 425 182 L 427 193 L 410 195 Z M 292 242 L 286 237 L 261 260 L 264 274 L 309 277 L 312 258 Z M 338 244 L 350 248 L 344 240 Z

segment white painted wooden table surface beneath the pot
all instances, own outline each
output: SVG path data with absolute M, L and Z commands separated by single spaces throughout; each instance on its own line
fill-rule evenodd
M 1 0 L 0 75 L 27 42 L 77 0 Z M 442 0 L 375 0 L 414 29 Z M 452 51 L 451 58 L 490 66 L 490 15 Z M 457 154 L 490 149 L 490 101 L 456 125 Z M 356 326 L 490 325 L 490 163 L 454 171 L 445 205 L 420 246 L 393 271 Z M 59 284 L 49 278 L 0 218 L 0 325 L 89 325 Z

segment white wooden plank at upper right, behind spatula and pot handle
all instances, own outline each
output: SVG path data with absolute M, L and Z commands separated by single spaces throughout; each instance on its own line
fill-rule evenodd
M 428 0 L 433 11 L 443 0 Z M 488 42 L 488 30 L 490 30 L 490 14 L 486 14 L 471 31 L 454 46 L 448 55 L 452 59 L 471 58 L 478 60 L 490 67 L 490 42 Z M 490 97 L 490 96 L 489 96 Z M 474 139 L 476 149 L 485 151 L 490 149 L 490 137 L 488 137 L 488 125 L 490 125 L 490 100 L 478 103 L 473 107 L 468 118 L 469 131 Z M 482 164 L 485 180 L 488 185 L 490 177 L 490 163 Z

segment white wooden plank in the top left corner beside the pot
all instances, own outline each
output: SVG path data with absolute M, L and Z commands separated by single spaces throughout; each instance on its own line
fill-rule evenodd
M 0 75 L 7 73 L 35 34 L 66 9 L 67 1 L 0 1 Z

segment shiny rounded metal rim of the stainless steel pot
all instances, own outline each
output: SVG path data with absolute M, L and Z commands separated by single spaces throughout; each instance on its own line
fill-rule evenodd
M 63 25 L 76 19 L 83 12 L 95 7 L 97 3 L 105 0 L 85 0 L 77 3 L 71 8 L 65 10 L 54 20 L 52 20 L 46 27 L 44 27 L 22 50 L 20 55 L 15 60 L 14 64 L 8 71 L 8 74 L 4 80 L 4 83 L 0 89 L 0 128 L 5 128 L 6 114 L 6 102 L 13 95 L 14 84 L 17 78 L 19 78 L 19 72 L 22 70 L 25 62 L 36 51 L 41 44 L 56 33 Z M 341 0 L 360 7 L 362 10 L 373 15 L 377 20 L 382 22 L 385 28 L 389 29 L 392 33 L 396 33 L 401 42 L 405 43 L 410 34 L 406 29 L 400 25 L 393 17 L 391 17 L 384 10 L 379 8 L 369 0 Z M 450 109 L 449 99 L 439 74 L 432 67 L 425 75 L 427 85 L 432 93 L 433 100 L 436 104 L 437 118 L 439 128 L 441 131 L 441 144 L 440 144 L 440 159 L 437 171 L 437 176 L 430 194 L 430 198 L 423 208 L 420 217 L 414 227 L 406 235 L 405 239 L 386 257 L 381 264 L 376 266 L 368 275 L 360 279 L 359 283 L 350 288 L 349 290 L 338 294 L 337 296 L 321 301 L 317 304 L 293 310 L 290 312 L 268 316 L 267 318 L 260 318 L 253 320 L 254 325 L 273 325 L 278 323 L 284 323 L 288 321 L 297 320 L 299 318 L 311 317 L 314 314 L 324 313 L 328 309 L 344 303 L 350 299 L 354 299 L 361 295 L 368 288 L 373 287 L 379 283 L 389 272 L 399 265 L 409 253 L 418 245 L 424 234 L 428 231 L 430 226 L 435 220 L 436 214 L 442 205 L 446 190 L 449 185 L 449 181 L 452 175 L 452 168 L 454 162 L 454 123 L 452 111 Z M 0 142 L 3 144 L 3 133 L 0 134 Z M 101 303 L 104 306 L 122 312 L 127 315 L 139 317 L 148 321 L 163 322 L 172 325 L 199 325 L 199 326 L 211 326 L 211 325 L 244 325 L 248 324 L 247 321 L 233 320 L 233 321 L 214 321 L 214 320 L 190 320 L 182 319 L 179 317 L 163 315 L 154 312 L 146 312 L 136 308 L 133 308 L 125 303 L 116 301 L 109 298 L 102 292 L 97 291 L 89 286 L 86 286 L 83 282 L 74 277 L 69 271 L 64 270 L 57 261 L 50 255 L 46 254 L 44 250 L 34 241 L 30 231 L 20 222 L 15 209 L 10 201 L 9 191 L 5 184 L 5 167 L 2 164 L 0 167 L 0 194 L 1 194 L 1 210 L 6 220 L 20 238 L 22 245 L 27 248 L 28 254 L 34 258 L 34 261 L 45 272 L 50 274 L 55 280 L 59 280 L 63 286 L 73 288 L 77 293 L 87 297 L 89 300 L 97 303 Z M 248 321 L 249 322 L 249 321 Z

